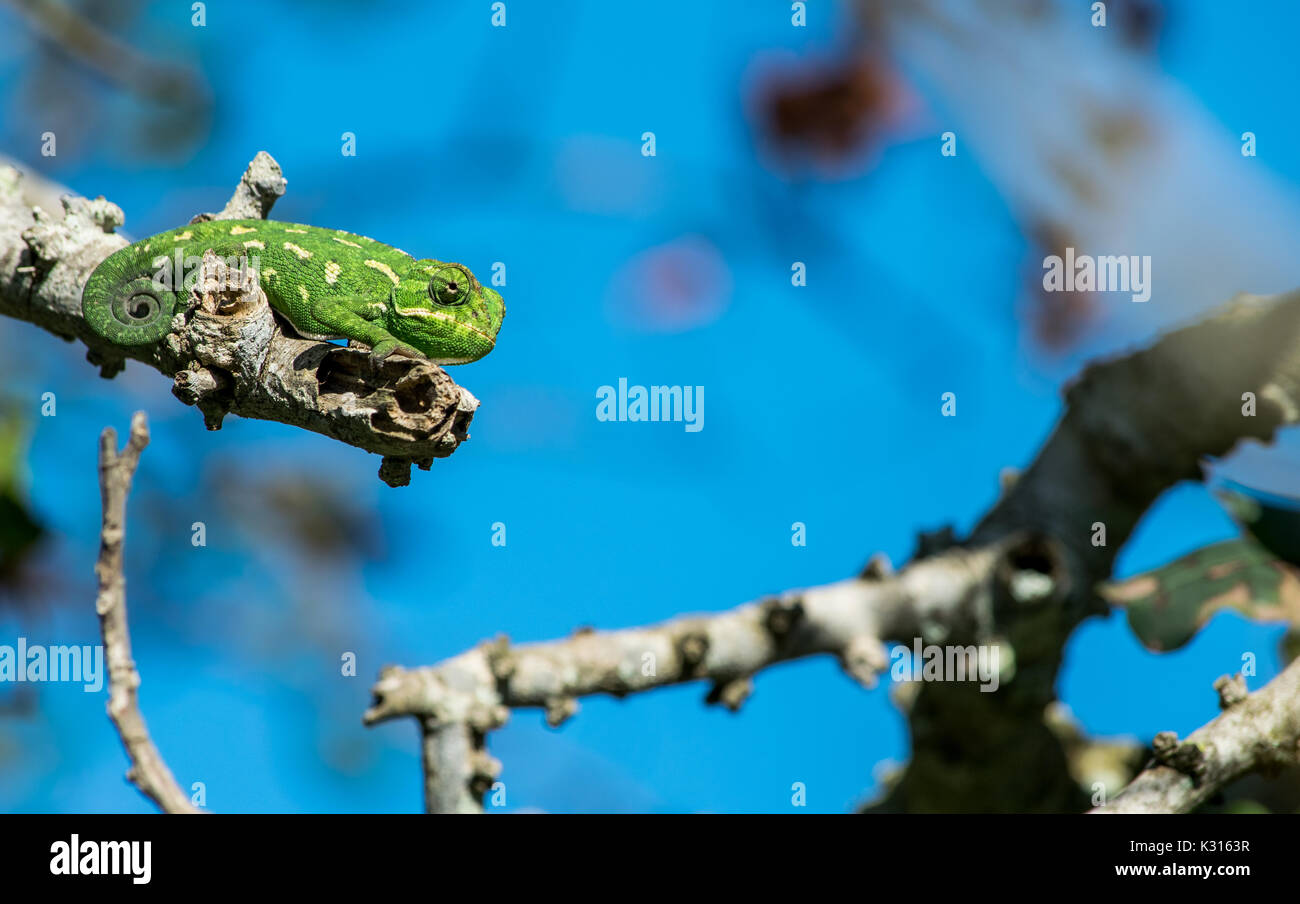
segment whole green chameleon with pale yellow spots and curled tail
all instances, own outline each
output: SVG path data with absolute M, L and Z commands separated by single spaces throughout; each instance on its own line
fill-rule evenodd
M 86 321 L 116 345 L 157 342 L 183 310 L 208 250 L 247 259 L 266 300 L 302 336 L 356 339 L 378 359 L 399 352 L 438 364 L 478 360 L 493 350 L 506 316 L 500 294 L 460 264 L 416 260 L 342 229 L 211 220 L 109 255 L 82 293 Z M 172 278 L 181 272 L 187 282 Z

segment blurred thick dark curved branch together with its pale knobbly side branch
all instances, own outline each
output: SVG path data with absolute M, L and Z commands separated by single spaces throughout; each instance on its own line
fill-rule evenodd
M 1247 392 L 1256 416 L 1243 416 Z M 364 721 L 417 718 L 426 806 L 478 810 L 497 774 L 486 736 L 511 708 L 543 708 L 558 725 L 580 696 L 688 680 L 710 680 L 708 700 L 736 708 L 757 671 L 789 658 L 835 654 L 870 685 L 888 663 L 887 640 L 997 644 L 997 693 L 946 682 L 911 695 L 913 757 L 876 809 L 1082 810 L 1087 797 L 1050 718 L 1066 640 L 1106 610 L 1096 588 L 1156 498 L 1199 479 L 1202 458 L 1296 423 L 1296 399 L 1300 293 L 1240 295 L 1149 349 L 1089 367 L 1034 464 L 963 544 L 923 535 L 896 575 L 871 565 L 716 615 L 517 648 L 498 640 L 434 666 L 391 667 Z

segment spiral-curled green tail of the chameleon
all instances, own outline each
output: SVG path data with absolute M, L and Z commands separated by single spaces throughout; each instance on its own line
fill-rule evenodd
M 82 290 L 86 323 L 116 345 L 150 345 L 166 336 L 181 294 L 152 272 L 134 245 L 109 255 Z

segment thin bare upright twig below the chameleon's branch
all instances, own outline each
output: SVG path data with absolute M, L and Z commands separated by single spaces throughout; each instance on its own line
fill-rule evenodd
M 126 578 L 122 571 L 126 498 L 140 451 L 148 441 L 150 429 L 143 411 L 138 411 L 131 419 L 131 436 L 121 453 L 117 451 L 117 432 L 112 427 L 99 438 L 99 488 L 104 501 L 104 522 L 99 561 L 95 563 L 95 576 L 99 580 L 95 611 L 99 613 L 104 656 L 108 661 L 108 715 L 131 761 L 126 778 L 164 813 L 198 813 L 177 786 L 172 770 L 162 761 L 144 726 L 138 695 L 140 675 L 131 658 L 131 635 L 126 624 Z

